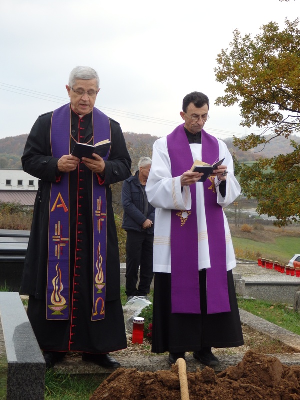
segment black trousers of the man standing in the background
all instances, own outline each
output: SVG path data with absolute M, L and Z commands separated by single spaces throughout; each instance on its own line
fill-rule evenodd
M 127 231 L 126 241 L 126 294 L 127 296 L 145 296 L 150 292 L 153 279 L 153 240 L 154 234 Z M 139 285 L 136 287 L 138 281 Z

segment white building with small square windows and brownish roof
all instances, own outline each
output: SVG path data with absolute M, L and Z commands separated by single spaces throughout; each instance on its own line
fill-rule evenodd
M 38 178 L 22 169 L 0 169 L 0 201 L 33 206 Z

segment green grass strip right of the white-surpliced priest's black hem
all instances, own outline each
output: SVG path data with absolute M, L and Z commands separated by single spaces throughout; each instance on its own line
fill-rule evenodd
M 293 333 L 300 334 L 300 313 L 289 309 L 285 304 L 271 303 L 264 300 L 238 299 L 239 308 L 253 315 L 281 326 Z

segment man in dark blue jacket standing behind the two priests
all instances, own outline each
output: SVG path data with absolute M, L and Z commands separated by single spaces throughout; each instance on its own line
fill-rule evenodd
M 153 279 L 153 240 L 155 208 L 148 202 L 145 186 L 152 160 L 142 157 L 138 171 L 123 183 L 122 203 L 124 217 L 122 228 L 127 232 L 126 241 L 126 294 L 146 296 Z M 139 285 L 138 268 L 140 265 Z

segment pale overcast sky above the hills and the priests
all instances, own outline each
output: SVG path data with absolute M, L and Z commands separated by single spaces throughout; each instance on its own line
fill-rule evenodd
M 29 133 L 38 115 L 68 102 L 76 65 L 97 70 L 96 107 L 123 131 L 167 135 L 197 90 L 210 99 L 209 133 L 248 134 L 238 107 L 214 105 L 225 89 L 215 81 L 217 54 L 234 29 L 254 37 L 299 11 L 299 0 L 2 0 L 0 138 Z

